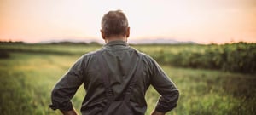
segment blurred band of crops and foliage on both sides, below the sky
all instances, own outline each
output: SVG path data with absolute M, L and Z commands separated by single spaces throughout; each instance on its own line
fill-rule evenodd
M 131 45 L 151 55 L 161 64 L 222 70 L 225 72 L 256 73 L 256 43 Z M 0 50 L 58 55 L 83 55 L 102 46 L 97 43 L 24 44 L 0 43 Z

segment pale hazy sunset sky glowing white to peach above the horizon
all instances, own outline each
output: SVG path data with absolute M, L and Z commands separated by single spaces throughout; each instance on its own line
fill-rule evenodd
M 125 12 L 131 39 L 256 43 L 256 0 L 0 0 L 0 40 L 101 39 L 113 9 Z

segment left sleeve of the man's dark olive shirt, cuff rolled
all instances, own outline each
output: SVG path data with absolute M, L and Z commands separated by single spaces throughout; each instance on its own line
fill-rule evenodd
M 71 99 L 79 86 L 83 83 L 84 61 L 83 57 L 77 60 L 68 72 L 55 84 L 51 92 L 52 104 L 49 107 L 53 110 L 73 110 Z

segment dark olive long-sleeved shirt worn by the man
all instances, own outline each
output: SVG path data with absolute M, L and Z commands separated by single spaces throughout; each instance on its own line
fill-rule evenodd
M 106 66 L 101 68 L 97 61 L 96 52 L 101 51 L 107 60 Z M 135 72 L 138 60 L 138 51 L 131 48 L 124 41 L 112 41 L 102 49 L 83 55 L 75 62 L 68 72 L 55 84 L 52 90 L 52 109 L 68 111 L 73 109 L 71 99 L 81 84 L 84 84 L 86 95 L 82 103 L 83 115 L 90 115 L 92 111 L 102 111 L 106 107 L 106 93 L 102 80 L 102 69 L 108 72 L 110 85 L 115 100 L 122 100 L 125 89 L 131 81 L 131 74 Z M 137 113 L 144 114 L 147 109 L 145 93 L 152 85 L 160 94 L 155 106 L 159 112 L 171 111 L 178 100 L 178 90 L 172 80 L 160 68 L 156 61 L 143 53 L 142 66 L 139 69 L 137 83 L 131 96 L 131 106 Z M 149 105 L 154 106 L 154 105 Z

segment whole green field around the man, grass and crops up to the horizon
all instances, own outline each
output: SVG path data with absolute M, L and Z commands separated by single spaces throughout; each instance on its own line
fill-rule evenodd
M 240 49 L 239 54 L 245 54 L 243 60 L 240 58 L 235 60 L 235 56 L 231 58 L 232 53 L 236 51 L 234 45 Z M 227 68 L 223 68 L 222 64 L 225 61 L 222 58 L 217 58 L 218 65 L 214 63 L 215 60 L 210 63 L 207 58 L 203 58 L 204 60 L 199 58 L 200 60 L 195 63 L 190 62 L 192 60 L 194 62 L 194 55 L 201 57 L 210 49 L 213 54 L 216 53 L 214 52 L 216 49 L 221 52 L 225 50 L 224 46 L 140 45 L 133 47 L 160 62 L 165 72 L 177 84 L 181 93 L 180 99 L 177 108 L 168 112 L 168 115 L 255 114 L 255 44 L 234 45 L 232 45 L 234 51 L 231 50 L 230 53 L 223 54 L 230 55 L 230 60 L 242 64 L 236 66 L 236 64 L 230 64 L 230 60 L 226 60 L 230 62 L 227 63 L 229 64 Z M 0 43 L 0 114 L 61 114 L 59 111 L 49 109 L 51 89 L 79 56 L 100 48 L 100 45 L 95 44 Z M 184 52 L 190 56 L 181 57 Z M 189 58 L 187 63 L 183 62 L 183 60 L 187 60 L 185 57 Z M 177 60 L 178 58 L 179 60 Z M 224 57 L 224 59 L 226 58 Z M 198 60 L 198 58 L 196 59 Z M 174 63 L 176 61 L 181 63 Z M 201 61 L 210 63 L 210 66 Z M 214 64 L 215 66 L 213 66 Z M 229 68 L 230 66 L 234 66 L 233 70 Z M 73 97 L 73 105 L 78 111 L 84 95 L 85 91 L 80 87 Z M 158 97 L 157 92 L 150 87 L 146 96 L 147 115 L 154 109 Z

